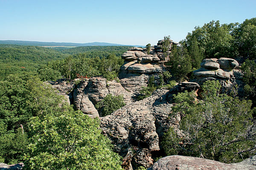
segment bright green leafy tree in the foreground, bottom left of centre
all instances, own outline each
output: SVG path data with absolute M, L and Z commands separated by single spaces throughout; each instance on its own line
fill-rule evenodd
M 25 170 L 122 170 L 99 119 L 67 110 L 32 119 Z

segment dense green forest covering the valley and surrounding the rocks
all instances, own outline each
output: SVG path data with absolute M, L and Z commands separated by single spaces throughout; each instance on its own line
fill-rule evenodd
M 256 18 L 243 23 L 211 21 L 195 27 L 186 39 L 166 47 L 163 71 L 148 80 L 137 100 L 158 88 L 193 79 L 193 71 L 207 58 L 239 61 L 243 94 L 221 91 L 218 81 L 207 81 L 201 95 L 174 95 L 170 117 L 181 114 L 180 129 L 186 139 L 170 128 L 161 144 L 163 155 L 196 156 L 233 163 L 256 154 Z M 84 116 L 44 81 L 103 76 L 118 80 L 129 46 L 44 48 L 0 45 L 0 162 L 25 162 L 25 169 L 121 170 L 122 158 L 102 135 L 99 119 Z M 109 105 L 111 103 L 111 105 Z M 113 105 L 114 107 L 113 109 Z M 125 104 L 108 95 L 98 103 L 104 116 Z M 156 160 L 154 160 L 156 161 Z M 141 170 L 145 167 L 140 167 Z

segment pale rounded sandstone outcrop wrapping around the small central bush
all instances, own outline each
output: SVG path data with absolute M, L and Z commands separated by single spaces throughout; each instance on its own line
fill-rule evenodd
M 119 82 L 108 81 L 102 77 L 83 79 L 78 85 L 74 80 L 67 82 L 67 79 L 59 79 L 56 82 L 49 82 L 53 88 L 58 90 L 58 94 L 65 96 L 74 108 L 81 110 L 89 117 L 101 116 L 95 108 L 97 102 L 104 99 L 108 94 L 122 95 L 125 103 L 133 101 L 134 94 L 125 90 Z

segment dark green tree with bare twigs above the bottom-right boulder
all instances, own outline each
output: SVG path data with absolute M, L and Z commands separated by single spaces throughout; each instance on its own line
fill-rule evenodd
M 194 92 L 175 96 L 173 115 L 182 115 L 183 137 L 170 130 L 164 139 L 166 153 L 197 156 L 225 163 L 238 162 L 254 155 L 256 127 L 250 110 L 251 102 L 220 94 L 217 81 L 202 86 L 203 100 Z M 175 153 L 176 154 L 176 153 Z

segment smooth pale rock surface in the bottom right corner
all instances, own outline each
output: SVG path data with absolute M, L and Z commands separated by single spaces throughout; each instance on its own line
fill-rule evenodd
M 256 156 L 236 164 L 224 164 L 209 159 L 189 156 L 166 156 L 148 170 L 256 170 Z

